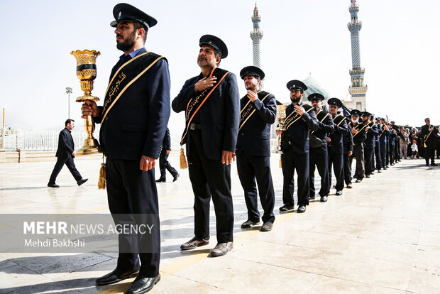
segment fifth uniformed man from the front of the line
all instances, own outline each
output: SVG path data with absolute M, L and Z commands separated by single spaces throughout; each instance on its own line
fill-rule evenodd
M 330 192 L 329 177 L 329 152 L 327 150 L 327 134 L 333 134 L 334 122 L 331 115 L 322 110 L 322 101 L 324 96 L 319 93 L 312 93 L 308 97 L 317 112 L 318 129 L 310 131 L 310 153 L 309 153 L 309 181 L 310 181 L 310 199 L 315 197 L 314 188 L 314 168 L 317 166 L 319 176 L 321 177 L 321 189 L 319 190 L 319 201 L 326 202 Z M 314 138 L 313 138 L 314 137 Z

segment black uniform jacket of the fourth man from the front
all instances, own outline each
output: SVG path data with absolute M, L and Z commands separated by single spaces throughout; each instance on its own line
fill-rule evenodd
M 304 106 L 301 102 L 299 105 Z M 292 114 L 294 107 L 290 104 L 286 109 L 286 117 Z M 295 114 L 292 114 L 295 115 Z M 283 132 L 281 139 L 281 151 L 283 153 L 309 153 L 309 130 L 317 131 L 317 114 L 312 109 L 302 114 L 287 131 Z

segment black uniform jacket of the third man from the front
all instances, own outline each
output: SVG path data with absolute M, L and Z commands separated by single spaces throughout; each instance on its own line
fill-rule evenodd
M 241 109 L 249 102 L 248 106 L 251 105 L 255 112 L 238 131 L 238 155 L 243 152 L 249 156 L 270 156 L 270 125 L 277 116 L 277 102 L 273 94 L 261 102 L 267 94 L 265 91 L 258 92 L 255 102 L 251 102 L 247 95 L 240 99 Z

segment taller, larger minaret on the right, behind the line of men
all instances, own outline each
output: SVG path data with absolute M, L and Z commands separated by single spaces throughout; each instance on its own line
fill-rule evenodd
M 348 23 L 348 30 L 351 33 L 351 61 L 353 68 L 350 70 L 351 86 L 348 92 L 351 94 L 353 109 L 365 110 L 365 93 L 368 87 L 363 85 L 363 74 L 365 69 L 361 67 L 361 48 L 359 46 L 359 31 L 362 28 L 362 22 L 358 21 L 359 6 L 356 0 L 350 0 L 351 6 L 348 9 L 351 14 L 351 22 Z

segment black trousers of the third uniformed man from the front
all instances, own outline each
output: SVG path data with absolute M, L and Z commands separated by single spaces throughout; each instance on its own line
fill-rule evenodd
M 258 194 L 260 194 L 261 207 L 263 207 L 263 222 L 274 222 L 275 190 L 273 189 L 272 175 L 270 173 L 270 156 L 237 156 L 238 178 L 244 190 L 244 199 L 248 208 L 248 219 L 252 222 L 260 221 L 258 212 Z M 255 185 L 255 179 L 256 184 Z

